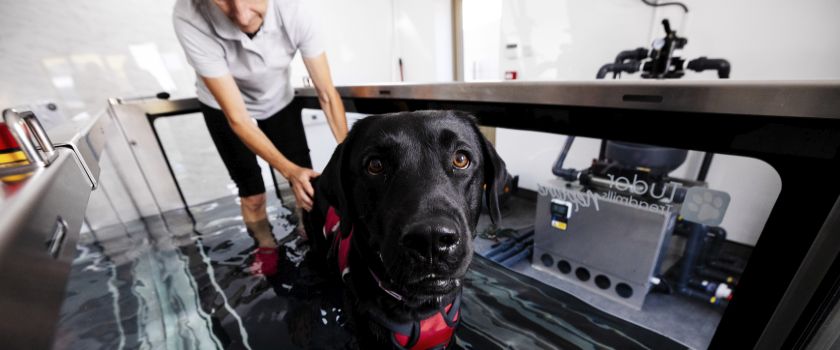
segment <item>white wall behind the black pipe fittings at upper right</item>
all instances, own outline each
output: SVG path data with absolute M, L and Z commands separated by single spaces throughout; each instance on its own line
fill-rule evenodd
M 464 0 L 466 76 L 478 62 L 476 79 L 501 79 L 504 71 L 517 70 L 525 80 L 590 80 L 619 51 L 650 48 L 668 18 L 688 38 L 680 56 L 726 58 L 732 79 L 840 79 L 840 1 L 682 2 L 688 15 L 641 1 Z M 496 31 L 498 38 L 492 37 Z M 507 43 L 519 44 L 517 57 L 504 49 Z M 496 71 L 482 69 L 497 65 Z M 688 72 L 684 79 L 717 76 Z

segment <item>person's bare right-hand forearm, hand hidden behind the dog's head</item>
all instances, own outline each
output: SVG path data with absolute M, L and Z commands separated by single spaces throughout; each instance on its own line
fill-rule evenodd
M 335 89 L 330 76 L 330 66 L 327 63 L 327 54 L 303 58 L 303 64 L 306 70 L 309 71 L 309 77 L 315 85 L 315 91 L 318 92 L 318 102 L 321 103 L 321 109 L 327 115 L 327 123 L 335 136 L 338 143 L 344 141 L 347 137 L 347 115 L 344 113 L 344 103 L 341 102 L 341 96 Z

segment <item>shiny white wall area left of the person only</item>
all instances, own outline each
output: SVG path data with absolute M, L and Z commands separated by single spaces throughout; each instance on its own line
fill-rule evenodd
M 193 96 L 173 0 L 2 1 L 0 108 L 49 100 L 70 115 L 106 98 Z

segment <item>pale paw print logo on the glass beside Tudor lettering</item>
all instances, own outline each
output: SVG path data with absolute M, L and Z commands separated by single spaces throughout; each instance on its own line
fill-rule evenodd
M 702 187 L 689 188 L 680 215 L 698 224 L 717 226 L 729 207 L 729 194 Z

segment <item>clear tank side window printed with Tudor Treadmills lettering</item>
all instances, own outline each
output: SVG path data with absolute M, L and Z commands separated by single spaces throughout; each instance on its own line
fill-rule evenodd
M 611 314 L 706 347 L 778 196 L 778 174 L 744 157 L 565 141 L 553 163 L 508 165 L 537 179 L 524 181 L 537 198 L 530 263 L 508 261 L 515 252 L 477 251 Z

